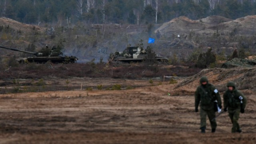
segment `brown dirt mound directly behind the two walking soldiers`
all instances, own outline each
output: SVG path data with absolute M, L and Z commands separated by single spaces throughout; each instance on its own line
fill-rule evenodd
M 239 90 L 246 94 L 251 94 L 249 90 L 256 89 L 255 81 L 256 68 L 236 68 L 236 69 L 204 69 L 200 73 L 184 79 L 174 90 L 174 94 L 191 94 L 193 95 L 196 87 L 200 86 L 199 79 L 204 75 L 208 77 L 209 82 L 214 84 L 220 92 L 226 90 L 226 83 L 233 81 L 237 84 Z

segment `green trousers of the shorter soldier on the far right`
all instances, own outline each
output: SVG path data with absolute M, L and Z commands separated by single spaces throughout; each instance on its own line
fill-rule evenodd
M 237 130 L 240 130 L 240 126 L 238 124 L 239 115 L 240 115 L 240 108 L 234 109 L 234 110 L 229 110 L 229 117 L 233 124 L 232 133 L 236 133 Z

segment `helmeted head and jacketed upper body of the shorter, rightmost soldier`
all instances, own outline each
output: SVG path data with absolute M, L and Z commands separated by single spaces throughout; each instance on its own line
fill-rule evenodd
M 245 109 L 247 99 L 245 96 L 242 94 L 242 92 L 238 91 L 236 89 L 236 84 L 233 82 L 229 82 L 228 86 L 232 86 L 234 88 L 233 91 L 227 90 L 224 95 L 224 108 L 228 108 L 229 110 L 234 110 L 234 109 Z M 242 98 L 242 104 L 241 104 L 241 98 Z

